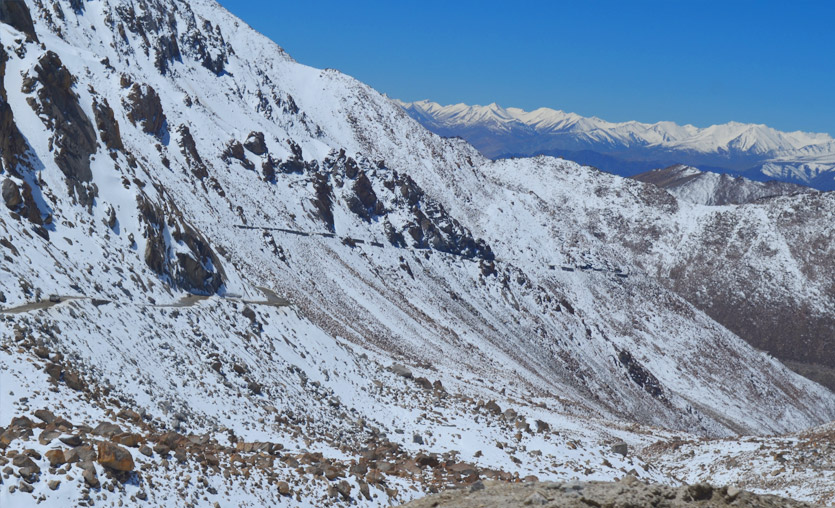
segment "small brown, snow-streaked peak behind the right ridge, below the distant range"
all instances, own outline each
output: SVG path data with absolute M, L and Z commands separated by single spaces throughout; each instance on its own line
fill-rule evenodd
M 743 177 L 700 171 L 677 164 L 635 175 L 635 180 L 667 190 L 678 199 L 701 205 L 741 205 L 775 196 L 815 192 L 809 187 L 785 182 L 755 182 Z

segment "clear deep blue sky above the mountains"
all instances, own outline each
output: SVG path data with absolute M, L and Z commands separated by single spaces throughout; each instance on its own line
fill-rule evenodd
M 835 1 L 220 2 L 403 100 L 835 135 Z

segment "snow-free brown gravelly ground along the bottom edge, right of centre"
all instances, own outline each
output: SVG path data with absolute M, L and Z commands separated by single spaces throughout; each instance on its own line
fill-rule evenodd
M 651 485 L 632 476 L 619 482 L 502 483 L 477 482 L 466 489 L 418 499 L 403 508 L 638 508 L 654 507 L 805 507 L 814 506 L 776 496 L 761 496 L 734 487 L 701 483 L 682 487 Z

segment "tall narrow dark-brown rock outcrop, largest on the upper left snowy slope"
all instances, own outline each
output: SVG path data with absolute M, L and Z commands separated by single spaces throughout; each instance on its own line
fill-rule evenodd
M 96 197 L 90 156 L 96 151 L 96 131 L 72 87 L 75 79 L 52 51 L 47 52 L 35 66 L 36 79 L 24 81 L 24 92 L 39 83 L 38 100 L 29 104 L 44 124 L 55 133 L 55 164 L 64 173 L 70 194 L 88 208 Z

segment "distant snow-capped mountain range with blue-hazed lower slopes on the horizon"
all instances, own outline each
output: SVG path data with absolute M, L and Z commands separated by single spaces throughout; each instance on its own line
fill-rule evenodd
M 424 127 L 458 136 L 493 159 L 552 155 L 633 176 L 675 164 L 759 181 L 835 189 L 835 139 L 731 122 L 698 128 L 673 122 L 613 123 L 539 108 L 524 111 L 431 101 L 398 104 Z

